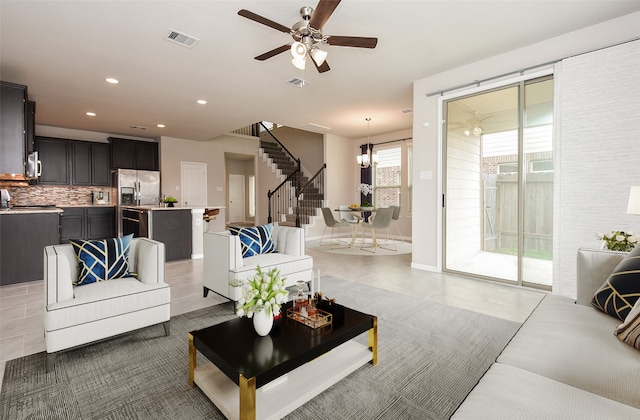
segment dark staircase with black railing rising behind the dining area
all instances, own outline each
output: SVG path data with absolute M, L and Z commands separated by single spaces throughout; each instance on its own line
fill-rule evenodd
M 273 214 L 273 221 L 282 226 L 310 224 L 311 217 L 318 214 L 318 209 L 323 204 L 324 193 L 322 192 L 321 182 L 317 182 L 315 179 L 310 181 L 308 177 L 303 175 L 301 170 L 298 171 L 298 162 L 279 143 L 260 139 L 260 147 L 263 153 L 280 169 L 284 179 L 290 177 L 286 185 L 283 186 L 285 194 L 289 196 L 284 199 L 282 205 L 273 209 L 275 213 Z M 302 191 L 302 193 L 298 194 L 299 191 Z M 295 199 L 296 197 L 297 200 Z M 289 204 L 295 202 L 297 202 L 297 206 Z M 299 225 L 296 222 L 297 217 L 300 218 Z

